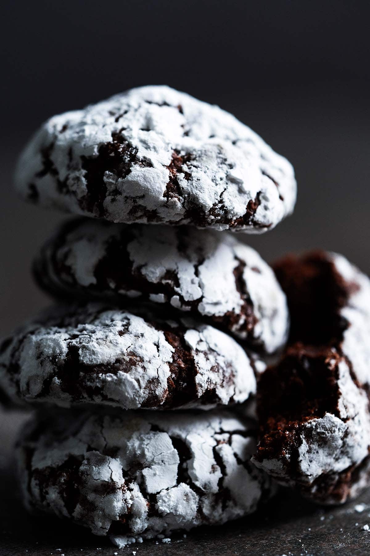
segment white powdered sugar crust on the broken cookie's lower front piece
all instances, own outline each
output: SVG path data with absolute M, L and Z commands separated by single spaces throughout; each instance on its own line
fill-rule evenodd
M 281 484 L 298 486 L 315 502 L 337 504 L 353 497 L 352 488 L 359 490 L 356 473 L 353 481 L 351 475 L 346 480 L 346 473 L 368 457 L 370 413 L 366 391 L 354 383 L 346 359 L 328 365 L 336 365 L 338 373 L 336 414 L 326 411 L 297 424 L 278 459 L 260 461 L 257 454 L 252 461 Z

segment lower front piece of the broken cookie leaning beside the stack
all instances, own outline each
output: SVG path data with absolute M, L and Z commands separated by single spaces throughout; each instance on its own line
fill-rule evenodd
M 353 380 L 346 359 L 334 350 L 332 357 L 326 353 L 313 359 L 305 351 L 298 354 L 291 350 L 283 359 L 283 366 L 278 378 L 270 371 L 262 375 L 260 402 L 265 404 L 270 421 L 266 425 L 262 418 L 262 438 L 253 461 L 281 484 L 297 487 L 315 502 L 346 502 L 364 486 L 362 473 L 359 483 L 357 468 L 367 461 L 370 450 L 367 393 Z M 286 368 L 295 376 L 284 372 Z M 320 373 L 321 378 L 315 373 Z M 279 384 L 282 380 L 283 386 Z M 270 381 L 270 385 L 265 381 Z M 315 381 L 321 390 L 312 393 Z M 269 412 L 268 395 L 284 388 L 286 392 L 282 396 L 277 394 L 280 411 L 274 408 L 275 411 Z M 311 392 L 310 403 L 299 393 L 301 388 Z M 317 400 L 320 403 L 316 406 Z M 270 428 L 272 414 L 275 426 Z

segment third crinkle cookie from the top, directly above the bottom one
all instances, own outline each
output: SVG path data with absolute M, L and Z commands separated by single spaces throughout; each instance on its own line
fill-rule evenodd
M 209 409 L 255 393 L 254 359 L 212 326 L 145 306 L 53 307 L 2 342 L 0 384 L 18 403 Z

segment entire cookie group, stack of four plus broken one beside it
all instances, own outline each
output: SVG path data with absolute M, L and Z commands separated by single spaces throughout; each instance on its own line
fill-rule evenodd
M 279 284 L 231 233 L 292 212 L 285 158 L 141 87 L 51 118 L 16 182 L 79 215 L 34 264 L 56 304 L 0 349 L 2 389 L 37 409 L 18 443 L 29 509 L 122 546 L 254 512 L 275 480 L 323 503 L 366 484 L 368 279 L 318 252 L 278 262 Z

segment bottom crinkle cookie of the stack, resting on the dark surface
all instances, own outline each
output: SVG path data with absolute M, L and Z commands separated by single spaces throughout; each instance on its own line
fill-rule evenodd
M 118 545 L 254 512 L 272 492 L 250 461 L 255 424 L 227 411 L 53 411 L 18 443 L 26 506 Z

